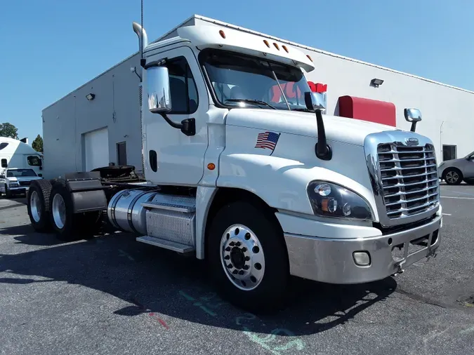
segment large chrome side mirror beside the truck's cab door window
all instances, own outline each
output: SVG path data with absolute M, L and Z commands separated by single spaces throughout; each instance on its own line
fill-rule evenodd
M 171 111 L 169 74 L 167 67 L 147 68 L 148 109 L 153 114 Z

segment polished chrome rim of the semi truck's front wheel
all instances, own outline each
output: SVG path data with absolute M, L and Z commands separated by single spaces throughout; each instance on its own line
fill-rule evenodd
M 241 290 L 254 290 L 265 274 L 261 242 L 249 227 L 232 225 L 220 239 L 220 262 L 230 282 Z

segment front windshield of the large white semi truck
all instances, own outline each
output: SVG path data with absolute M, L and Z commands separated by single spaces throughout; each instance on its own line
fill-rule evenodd
M 306 109 L 310 87 L 298 67 L 218 50 L 208 51 L 203 61 L 221 105 L 288 109 L 286 98 L 291 109 Z

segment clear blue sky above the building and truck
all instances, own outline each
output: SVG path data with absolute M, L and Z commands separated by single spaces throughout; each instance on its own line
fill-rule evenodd
M 472 0 L 143 0 L 150 41 L 193 14 L 474 91 Z M 2 0 L 0 123 L 41 111 L 138 50 L 140 0 Z M 317 63 L 316 63 L 317 65 Z

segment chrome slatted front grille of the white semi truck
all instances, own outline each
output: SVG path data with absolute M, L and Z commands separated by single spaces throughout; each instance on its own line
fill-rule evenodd
M 439 180 L 433 145 L 394 143 L 377 147 L 383 202 L 390 220 L 419 215 L 439 202 Z

